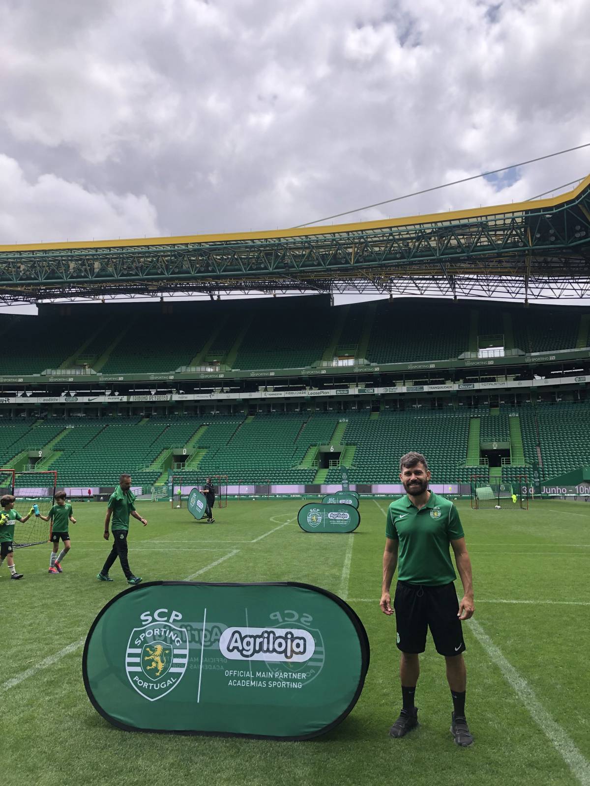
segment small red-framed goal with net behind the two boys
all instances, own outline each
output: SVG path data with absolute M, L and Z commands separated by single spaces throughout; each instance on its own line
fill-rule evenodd
M 15 471 L 13 476 L 13 494 L 16 498 L 14 509 L 21 516 L 26 516 L 33 505 L 37 505 L 39 513 L 46 516 L 53 506 L 53 498 L 57 487 L 57 472 Z M 14 528 L 15 548 L 26 545 L 46 543 L 50 539 L 50 522 L 43 521 L 33 514 L 24 524 L 17 523 Z

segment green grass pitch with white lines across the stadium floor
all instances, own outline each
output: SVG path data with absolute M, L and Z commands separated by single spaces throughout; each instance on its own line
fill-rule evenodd
M 385 500 L 362 500 L 353 534 L 305 534 L 299 500 L 230 501 L 216 523 L 149 501 L 132 521 L 131 569 L 144 580 L 262 582 L 330 589 L 371 641 L 363 694 L 337 729 L 304 743 L 127 733 L 103 720 L 83 688 L 90 623 L 127 588 L 110 547 L 105 505 L 74 505 L 64 573 L 50 545 L 16 553 L 19 582 L 0 571 L 2 786 L 11 784 L 575 784 L 590 782 L 590 505 L 546 501 L 528 512 L 459 503 L 474 569 L 474 623 L 464 626 L 466 714 L 475 737 L 455 747 L 444 659 L 432 640 L 416 692 L 420 726 L 388 737 L 400 709 L 395 619 L 378 608 Z M 460 582 L 457 582 L 458 589 Z

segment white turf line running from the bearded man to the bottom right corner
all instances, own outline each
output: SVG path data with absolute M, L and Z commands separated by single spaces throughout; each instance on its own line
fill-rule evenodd
M 510 685 L 511 689 L 518 695 L 526 709 L 529 711 L 533 721 L 537 723 L 541 731 L 547 736 L 548 740 L 555 747 L 555 750 L 562 757 L 563 761 L 570 768 L 577 780 L 584 786 L 590 784 L 590 762 L 578 751 L 573 740 L 566 733 L 559 723 L 556 723 L 548 711 L 543 707 L 535 696 L 535 692 L 521 674 L 507 661 L 500 648 L 496 647 L 492 639 L 485 633 L 485 630 L 474 619 L 471 620 L 469 630 L 477 638 L 481 646 L 488 653 L 492 663 L 500 669 L 503 678 Z

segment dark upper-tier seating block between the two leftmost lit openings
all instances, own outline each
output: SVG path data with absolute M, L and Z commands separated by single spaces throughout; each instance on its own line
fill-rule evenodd
M 209 326 L 197 324 L 197 314 L 141 316 L 113 349 L 101 371 L 105 374 L 162 373 L 188 365 L 205 345 Z M 124 325 L 121 325 L 124 327 Z M 106 347 L 105 347 L 106 349 Z

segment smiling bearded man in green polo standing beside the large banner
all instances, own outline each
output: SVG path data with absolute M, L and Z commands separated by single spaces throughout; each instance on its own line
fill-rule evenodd
M 473 744 L 465 718 L 465 642 L 461 620 L 474 613 L 471 564 L 459 513 L 452 502 L 428 490 L 426 458 L 407 453 L 400 458 L 400 480 L 406 495 L 389 505 L 383 554 L 382 612 L 396 615 L 397 648 L 401 650 L 400 679 L 403 707 L 389 736 L 401 737 L 418 725 L 414 704 L 420 673 L 419 653 L 426 648 L 430 628 L 437 652 L 444 656 L 453 700 L 451 733 L 455 743 Z M 463 599 L 455 592 L 455 564 L 463 582 Z M 393 608 L 389 589 L 397 567 Z

